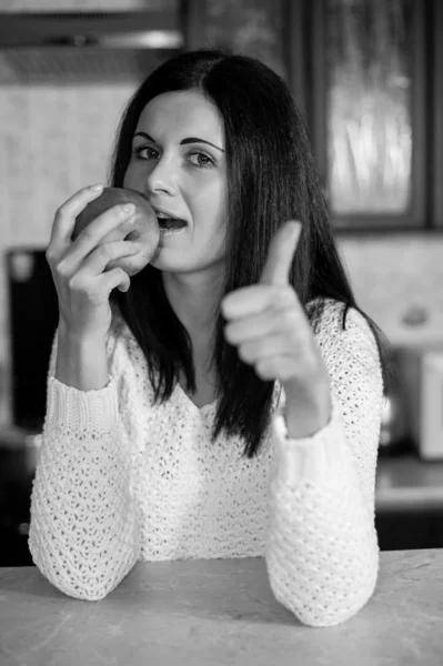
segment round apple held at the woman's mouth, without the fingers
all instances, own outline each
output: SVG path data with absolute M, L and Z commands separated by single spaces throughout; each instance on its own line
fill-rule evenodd
M 104 211 L 122 203 L 133 203 L 135 205 L 135 211 L 131 218 L 132 230 L 123 235 L 121 230 L 114 229 L 101 242 L 125 240 L 140 245 L 140 252 L 137 254 L 115 259 L 107 265 L 107 270 L 120 266 L 131 278 L 149 264 L 160 242 L 159 221 L 148 199 L 140 192 L 129 188 L 103 188 L 100 196 L 90 201 L 85 209 L 77 215 L 71 240 L 74 241 L 83 229 Z

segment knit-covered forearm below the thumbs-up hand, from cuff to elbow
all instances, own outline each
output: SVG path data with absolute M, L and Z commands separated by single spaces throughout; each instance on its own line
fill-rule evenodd
M 331 422 L 311 438 L 288 442 L 275 430 L 268 572 L 275 597 L 312 626 L 355 614 L 377 575 L 373 507 L 336 406 Z

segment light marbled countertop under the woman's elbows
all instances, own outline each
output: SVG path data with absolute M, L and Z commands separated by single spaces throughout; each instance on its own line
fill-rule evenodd
M 139 563 L 104 599 L 72 599 L 37 567 L 0 568 L 1 666 L 437 666 L 443 549 L 381 553 L 376 589 L 341 625 L 274 598 L 263 558 Z

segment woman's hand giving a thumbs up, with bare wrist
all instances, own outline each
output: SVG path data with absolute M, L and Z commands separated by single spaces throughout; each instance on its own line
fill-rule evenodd
M 330 413 L 328 370 L 311 324 L 289 282 L 302 225 L 290 220 L 271 241 L 259 284 L 228 294 L 224 335 L 262 380 L 279 380 L 286 395 L 288 436 L 311 436 Z

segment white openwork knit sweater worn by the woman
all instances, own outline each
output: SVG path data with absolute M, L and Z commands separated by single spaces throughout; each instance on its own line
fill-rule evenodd
M 239 438 L 222 434 L 211 445 L 215 402 L 198 408 L 177 383 L 167 404 L 152 406 L 147 361 L 121 317 L 108 335 L 110 381 L 98 391 L 54 379 L 56 335 L 31 500 L 40 572 L 67 595 L 94 601 L 139 559 L 264 556 L 276 599 L 302 623 L 354 615 L 377 577 L 383 385 L 365 320 L 351 309 L 342 331 L 342 309 L 328 301 L 316 336 L 331 421 L 286 440 L 275 408 L 252 460 L 241 457 Z

